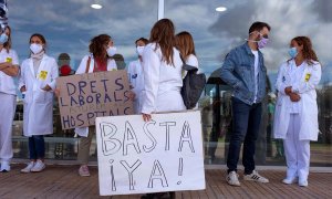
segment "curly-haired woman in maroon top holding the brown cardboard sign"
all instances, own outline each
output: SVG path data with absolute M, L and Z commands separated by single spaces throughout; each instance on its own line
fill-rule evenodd
M 91 54 L 82 59 L 76 74 L 117 70 L 116 63 L 112 59 L 116 52 L 116 48 L 110 35 L 100 34 L 93 38 L 90 41 L 89 50 Z M 75 128 L 75 133 L 81 136 L 77 157 L 81 164 L 79 175 L 90 176 L 87 163 L 92 137 L 95 135 L 95 126 Z

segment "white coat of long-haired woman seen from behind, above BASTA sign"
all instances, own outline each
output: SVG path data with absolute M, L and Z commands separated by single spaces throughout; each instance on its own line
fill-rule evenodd
M 163 61 L 160 48 L 149 43 L 143 52 L 144 96 L 142 113 L 177 112 L 186 109 L 180 88 L 183 61 L 173 48 L 174 65 Z

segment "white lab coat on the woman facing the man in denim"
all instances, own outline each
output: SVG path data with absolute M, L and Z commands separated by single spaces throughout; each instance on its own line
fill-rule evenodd
M 292 86 L 292 91 L 298 91 L 301 100 L 299 101 L 300 116 L 300 140 L 318 140 L 318 105 L 315 86 L 321 80 L 321 65 L 314 62 L 313 65 L 303 63 L 304 71 L 301 82 L 290 85 L 290 65 L 295 64 L 293 60 L 286 62 L 280 66 L 276 88 L 278 90 L 278 98 L 276 104 L 273 134 L 274 138 L 286 138 L 289 127 L 292 102 L 284 93 L 284 88 Z M 310 78 L 308 80 L 308 75 Z M 305 81 L 307 77 L 307 81 Z

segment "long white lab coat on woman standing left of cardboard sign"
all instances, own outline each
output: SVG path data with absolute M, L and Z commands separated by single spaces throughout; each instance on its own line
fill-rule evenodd
M 53 134 L 53 92 L 42 88 L 49 85 L 55 88 L 59 70 L 55 59 L 43 55 L 37 75 L 32 59 L 27 59 L 21 65 L 19 88 L 25 85 L 24 102 L 24 136 Z

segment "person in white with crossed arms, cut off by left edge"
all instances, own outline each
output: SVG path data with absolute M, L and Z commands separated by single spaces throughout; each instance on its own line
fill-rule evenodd
M 12 123 L 17 106 L 14 77 L 19 74 L 19 57 L 11 49 L 11 29 L 0 30 L 0 171 L 10 171 L 12 158 Z M 6 114 L 3 114 L 6 113 Z

